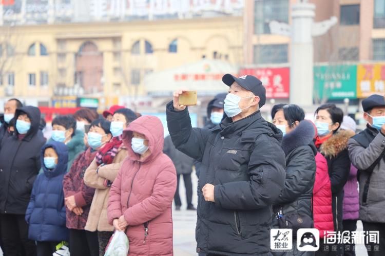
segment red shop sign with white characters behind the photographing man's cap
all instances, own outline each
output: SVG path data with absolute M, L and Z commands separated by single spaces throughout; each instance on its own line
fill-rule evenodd
M 287 99 L 290 92 L 290 68 L 241 69 L 240 76 L 253 75 L 262 81 L 266 98 Z

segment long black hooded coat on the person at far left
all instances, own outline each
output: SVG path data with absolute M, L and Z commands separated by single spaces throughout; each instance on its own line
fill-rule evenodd
M 45 138 L 38 132 L 40 110 L 24 106 L 16 110 L 15 120 L 22 113 L 31 120 L 31 128 L 23 139 L 14 135 L 4 137 L 0 150 L 0 213 L 24 215 L 33 182 L 41 167 L 40 150 Z

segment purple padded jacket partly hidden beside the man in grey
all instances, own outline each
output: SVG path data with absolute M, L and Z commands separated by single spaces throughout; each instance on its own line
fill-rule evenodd
M 350 174 L 347 183 L 343 187 L 343 219 L 358 220 L 359 204 L 358 204 L 358 182 L 357 168 L 350 166 Z

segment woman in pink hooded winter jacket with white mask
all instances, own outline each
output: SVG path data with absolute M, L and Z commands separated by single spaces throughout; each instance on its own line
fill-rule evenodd
M 128 156 L 111 186 L 107 216 L 126 230 L 128 255 L 172 255 L 171 204 L 177 188 L 172 161 L 163 154 L 159 118 L 142 116 L 123 132 Z

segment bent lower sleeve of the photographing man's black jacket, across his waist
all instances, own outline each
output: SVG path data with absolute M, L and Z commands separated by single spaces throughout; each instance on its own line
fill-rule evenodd
M 285 182 L 285 154 L 278 141 L 258 137 L 248 164 L 248 181 L 216 185 L 215 204 L 225 209 L 251 210 L 272 205 Z

